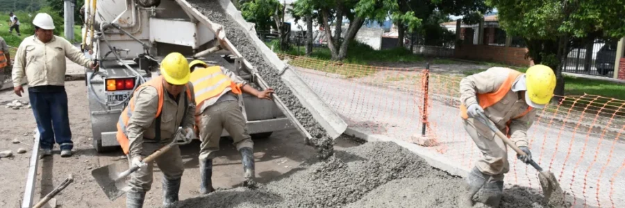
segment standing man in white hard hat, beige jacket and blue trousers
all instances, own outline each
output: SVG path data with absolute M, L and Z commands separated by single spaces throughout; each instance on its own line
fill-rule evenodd
M 54 141 L 60 146 L 61 157 L 72 156 L 72 131 L 69 128 L 67 94 L 65 93 L 65 58 L 97 69 L 97 64 L 85 58 L 80 49 L 63 37 L 52 34 L 52 17 L 39 13 L 33 19 L 35 35 L 26 37 L 15 55 L 12 81 L 17 96 L 22 96 L 23 79 L 28 81 L 30 99 L 43 155 L 52 155 Z

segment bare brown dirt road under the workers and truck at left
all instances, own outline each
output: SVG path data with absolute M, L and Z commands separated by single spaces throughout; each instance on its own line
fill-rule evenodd
M 72 127 L 72 140 L 74 141 L 74 156 L 61 158 L 58 154 L 58 146 L 55 146 L 55 155 L 40 161 L 38 170 L 37 189 L 35 201 L 49 193 L 54 187 L 62 182 L 68 174 L 74 175 L 74 183 L 61 192 L 56 198 L 63 207 L 124 207 L 125 197 L 110 202 L 101 192 L 97 183 L 92 180 L 91 170 L 99 166 L 119 162 L 125 163 L 121 150 L 114 153 L 98 154 L 91 146 L 91 122 L 88 114 L 88 101 L 86 100 L 86 88 L 84 81 L 72 81 L 65 83 L 69 98 L 69 120 Z M 13 92 L 1 92 L 0 103 L 6 103 L 18 99 Z M 28 94 L 19 98 L 28 101 Z M 4 105 L 2 105 L 4 106 Z M 33 129 L 36 127 L 31 109 L 12 110 L 0 108 L 3 115 L 0 126 L 0 150 L 12 150 L 14 157 L 0 159 L 0 207 L 19 207 L 24 194 L 26 173 L 28 171 L 28 159 L 31 155 L 31 147 L 24 144 L 12 144 L 12 139 L 19 139 L 26 144 L 32 144 Z M 287 173 L 298 166 L 304 159 L 314 157 L 315 149 L 303 144 L 303 138 L 299 132 L 288 130 L 274 132 L 269 139 L 255 141 L 256 177 L 260 182 L 267 182 L 274 177 Z M 335 148 L 358 145 L 354 141 L 340 140 Z M 17 148 L 24 147 L 28 150 L 25 154 L 17 154 Z M 222 140 L 222 151 L 215 159 L 215 173 L 213 183 L 216 188 L 231 188 L 242 184 L 242 166 L 240 155 L 235 150 L 231 141 Z M 181 200 L 198 195 L 199 189 L 199 142 L 182 147 L 185 173 L 180 191 Z M 156 169 L 156 172 L 158 169 Z M 162 202 L 162 189 L 160 181 L 162 174 L 156 173 L 152 191 L 147 194 L 146 207 L 157 207 Z

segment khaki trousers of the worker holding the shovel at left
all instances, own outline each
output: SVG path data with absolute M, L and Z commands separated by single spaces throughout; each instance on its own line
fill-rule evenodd
M 154 151 L 162 148 L 163 144 L 161 143 L 143 143 L 143 153 L 144 158 L 147 155 L 154 153 Z M 132 158 L 131 155 L 128 155 L 128 164 L 132 167 Z M 185 171 L 185 167 L 183 166 L 182 156 L 180 155 L 180 148 L 178 146 L 172 146 L 169 150 L 163 155 L 160 155 L 154 162 L 147 164 L 147 167 L 140 168 L 135 173 L 131 174 L 131 179 L 128 180 L 128 185 L 133 189 L 133 191 L 150 191 L 152 187 L 153 180 L 153 170 L 154 163 L 158 165 L 160 171 L 163 172 L 163 176 L 167 180 L 177 180 L 182 177 L 183 172 Z

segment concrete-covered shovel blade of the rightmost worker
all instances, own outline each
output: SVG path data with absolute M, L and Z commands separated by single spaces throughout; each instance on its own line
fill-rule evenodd
M 549 171 L 538 173 L 538 181 L 544 194 L 544 202 L 549 207 L 565 206 L 566 200 L 564 191 L 560 187 L 560 183 L 556 180 L 556 176 Z

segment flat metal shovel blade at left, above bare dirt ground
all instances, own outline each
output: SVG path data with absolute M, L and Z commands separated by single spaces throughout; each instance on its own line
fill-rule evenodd
M 110 164 L 91 171 L 91 175 L 96 180 L 102 191 L 109 200 L 113 201 L 130 190 L 127 177 L 119 178 L 119 173 L 128 169 L 127 165 Z

